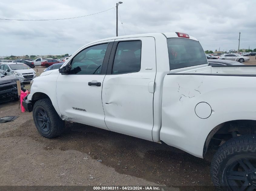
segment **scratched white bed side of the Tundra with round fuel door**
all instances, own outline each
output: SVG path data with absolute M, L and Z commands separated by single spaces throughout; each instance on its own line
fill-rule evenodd
M 215 126 L 256 120 L 255 74 L 255 66 L 231 65 L 183 68 L 165 75 L 161 141 L 202 158 L 204 142 Z

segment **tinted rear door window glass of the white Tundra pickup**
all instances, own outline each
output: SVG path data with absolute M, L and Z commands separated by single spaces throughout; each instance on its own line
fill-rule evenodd
M 141 41 L 119 42 L 112 74 L 139 72 L 141 69 Z

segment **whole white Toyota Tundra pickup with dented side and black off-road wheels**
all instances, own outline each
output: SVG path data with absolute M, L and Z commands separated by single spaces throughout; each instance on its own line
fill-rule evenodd
M 214 185 L 253 190 L 255 82 L 254 66 L 208 66 L 200 43 L 188 34 L 138 34 L 83 46 L 59 70 L 35 78 L 23 106 L 33 110 L 46 138 L 72 121 L 200 158 L 215 144 Z

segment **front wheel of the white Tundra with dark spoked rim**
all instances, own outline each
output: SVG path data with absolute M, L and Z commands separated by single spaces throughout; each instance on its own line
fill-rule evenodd
M 35 102 L 33 119 L 38 132 L 46 138 L 57 137 L 65 126 L 65 122 L 58 116 L 50 99 Z

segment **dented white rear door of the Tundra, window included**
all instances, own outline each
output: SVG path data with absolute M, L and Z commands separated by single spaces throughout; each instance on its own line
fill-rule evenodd
M 108 129 L 152 141 L 155 75 L 153 37 L 115 40 L 102 89 Z

